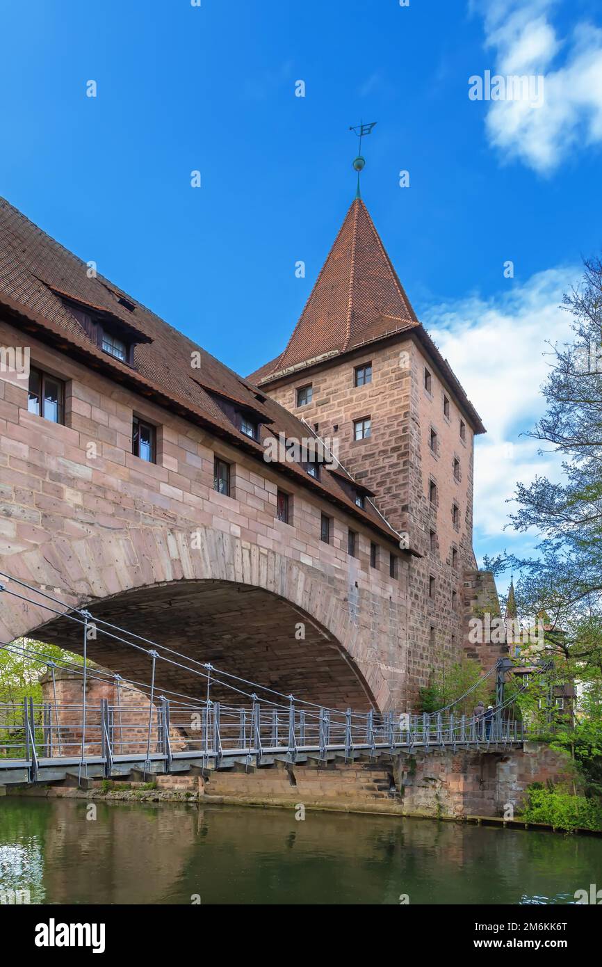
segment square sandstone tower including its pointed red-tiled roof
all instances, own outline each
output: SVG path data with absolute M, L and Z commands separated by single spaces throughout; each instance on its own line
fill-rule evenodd
M 463 654 L 482 591 L 473 553 L 473 438 L 485 430 L 418 321 L 360 198 L 284 351 L 249 379 L 337 441 L 340 462 L 421 555 L 404 577 L 416 694 L 433 668 Z M 371 566 L 385 570 L 389 562 L 377 554 Z

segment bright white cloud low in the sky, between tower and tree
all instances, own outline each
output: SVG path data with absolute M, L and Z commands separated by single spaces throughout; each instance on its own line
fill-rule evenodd
M 521 438 L 545 411 L 540 388 L 549 372 L 547 342 L 570 339 L 562 294 L 581 277 L 579 268 L 541 272 L 510 293 L 473 296 L 434 306 L 424 319 L 487 428 L 476 438 L 474 526 L 483 538 L 499 537 L 500 549 L 524 540 L 508 529 L 517 481 L 536 475 L 559 479 L 559 457 L 537 454 L 536 441 Z

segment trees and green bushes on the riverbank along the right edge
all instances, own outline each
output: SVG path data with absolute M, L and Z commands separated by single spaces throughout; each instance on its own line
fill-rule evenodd
M 535 790 L 530 809 L 569 825 L 579 814 L 597 823 L 586 828 L 602 829 L 602 258 L 584 269 L 564 296 L 570 330 L 549 347 L 547 408 L 530 433 L 559 454 L 561 480 L 517 484 L 510 519 L 516 531 L 540 535 L 533 556 L 502 554 L 484 565 L 520 575 L 518 614 L 543 640 L 514 651 L 527 685 L 518 704 L 542 739 L 570 755 L 572 791 L 584 793 L 571 803 Z

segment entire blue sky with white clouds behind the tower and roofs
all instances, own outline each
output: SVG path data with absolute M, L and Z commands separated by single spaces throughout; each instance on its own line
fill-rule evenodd
M 520 550 L 504 499 L 558 468 L 519 434 L 562 289 L 602 241 L 601 27 L 588 0 L 1 0 L 0 193 L 247 373 L 282 347 L 353 198 L 350 125 L 378 121 L 364 200 L 490 429 L 477 555 Z M 544 75 L 545 103 L 471 101 L 486 70 Z

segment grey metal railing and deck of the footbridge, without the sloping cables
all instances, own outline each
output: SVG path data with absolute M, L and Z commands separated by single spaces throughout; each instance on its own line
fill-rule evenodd
M 85 708 L 85 742 L 84 734 Z M 157 704 L 60 705 L 34 703 L 0 705 L 0 771 L 18 765 L 35 781 L 40 764 L 75 760 L 104 765 L 108 776 L 116 760 L 140 759 L 152 771 L 163 762 L 169 771 L 174 757 L 200 758 L 218 766 L 224 756 L 261 759 L 279 755 L 294 762 L 300 754 L 325 760 L 329 752 L 348 758 L 354 752 L 375 755 L 387 751 L 437 748 L 505 747 L 525 740 L 523 722 L 502 718 L 475 719 L 452 713 L 395 715 L 332 709 L 219 702 L 187 703 L 164 696 Z

